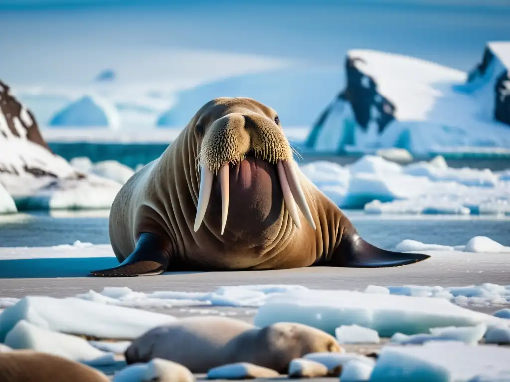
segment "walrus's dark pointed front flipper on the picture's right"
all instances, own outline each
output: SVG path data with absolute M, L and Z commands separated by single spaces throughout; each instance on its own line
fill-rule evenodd
M 340 245 L 331 258 L 334 266 L 372 268 L 398 266 L 428 259 L 421 253 L 386 251 L 367 243 L 357 233 L 342 237 Z

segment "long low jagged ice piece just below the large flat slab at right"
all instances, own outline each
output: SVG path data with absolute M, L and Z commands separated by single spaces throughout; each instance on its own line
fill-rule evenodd
M 475 345 L 483 338 L 486 331 L 487 325 L 484 323 L 464 327 L 450 326 L 446 328 L 431 328 L 430 334 L 423 333 L 407 336 L 402 333 L 396 333 L 391 341 L 401 345 L 423 344 L 429 341 L 461 341 L 466 344 Z

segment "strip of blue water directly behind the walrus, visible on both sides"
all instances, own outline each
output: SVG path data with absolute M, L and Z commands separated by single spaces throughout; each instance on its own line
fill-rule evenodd
M 108 244 L 108 212 L 61 212 L 0 216 L 0 247 L 47 247 L 75 240 Z M 462 245 L 473 236 L 488 236 L 510 246 L 510 219 L 487 217 L 372 216 L 346 211 L 361 236 L 379 247 L 392 249 L 404 239 Z

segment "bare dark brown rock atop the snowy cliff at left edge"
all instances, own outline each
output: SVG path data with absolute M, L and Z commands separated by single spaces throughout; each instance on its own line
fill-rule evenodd
M 34 114 L 25 108 L 10 92 L 10 87 L 0 79 L 0 110 L 4 114 L 7 125 L 15 137 L 20 137 L 18 129 L 21 127 L 26 131 L 26 138 L 48 151 L 51 151 L 44 142 Z M 17 127 L 16 128 L 16 124 Z M 4 131 L 0 131 L 7 138 Z

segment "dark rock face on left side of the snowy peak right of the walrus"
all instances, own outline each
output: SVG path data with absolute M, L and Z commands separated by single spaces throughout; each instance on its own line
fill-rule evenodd
M 347 86 L 337 95 L 333 103 L 348 102 L 356 122 L 363 131 L 367 131 L 370 123 L 376 123 L 377 132 L 381 134 L 395 119 L 397 108 L 393 102 L 377 92 L 374 78 L 358 69 L 355 65 L 356 62 L 365 61 L 359 57 L 347 56 L 345 60 Z M 311 149 L 315 146 L 319 132 L 332 110 L 333 104 L 330 104 L 321 113 L 312 127 L 305 147 Z

